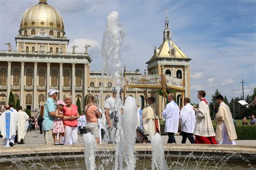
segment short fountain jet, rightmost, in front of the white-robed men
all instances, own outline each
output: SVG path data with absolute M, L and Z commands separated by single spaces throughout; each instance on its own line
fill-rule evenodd
M 151 146 L 153 147 L 151 169 L 168 169 L 165 162 L 164 143 L 159 133 L 151 137 Z

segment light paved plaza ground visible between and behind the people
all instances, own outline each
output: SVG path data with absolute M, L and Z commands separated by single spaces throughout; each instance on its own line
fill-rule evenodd
M 164 143 L 167 143 L 168 136 L 161 136 Z M 177 144 L 181 144 L 182 137 L 177 135 L 175 136 Z M 235 140 L 237 145 L 247 145 L 247 146 L 256 146 L 256 140 Z M 78 134 L 78 144 L 83 144 L 83 137 Z M 103 141 L 103 144 L 106 144 L 106 141 Z M 186 141 L 186 144 L 190 144 L 190 141 Z M 43 146 L 44 145 L 44 134 L 40 134 L 39 130 L 27 132 L 25 136 L 25 144 L 16 146 Z M 0 147 L 3 147 L 3 138 L 0 138 Z

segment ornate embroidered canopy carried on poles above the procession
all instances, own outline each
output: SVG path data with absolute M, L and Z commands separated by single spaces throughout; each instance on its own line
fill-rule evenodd
M 125 87 L 163 88 L 161 76 L 164 77 L 165 88 L 183 90 L 182 79 L 170 75 L 125 75 Z

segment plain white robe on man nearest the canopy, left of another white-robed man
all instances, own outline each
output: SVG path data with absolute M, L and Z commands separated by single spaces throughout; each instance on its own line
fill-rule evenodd
M 174 101 L 166 105 L 163 111 L 163 118 L 165 119 L 164 132 L 177 133 L 179 126 L 179 107 Z

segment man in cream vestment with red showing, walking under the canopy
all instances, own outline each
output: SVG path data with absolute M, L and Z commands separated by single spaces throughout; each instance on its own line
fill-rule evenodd
M 154 97 L 147 98 L 149 105 L 142 111 L 143 131 L 145 134 L 149 134 L 149 139 L 154 134 L 160 133 L 159 111 L 157 105 L 154 104 L 155 101 L 156 99 Z

